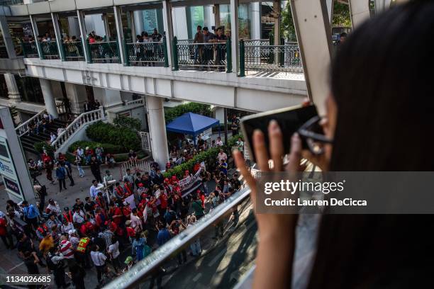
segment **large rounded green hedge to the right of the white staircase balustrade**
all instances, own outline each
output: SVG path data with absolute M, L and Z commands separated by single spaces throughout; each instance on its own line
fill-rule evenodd
M 128 128 L 121 128 L 102 121 L 89 125 L 86 135 L 94 142 L 112 144 L 122 147 L 124 152 L 140 149 L 140 138 L 137 132 Z

